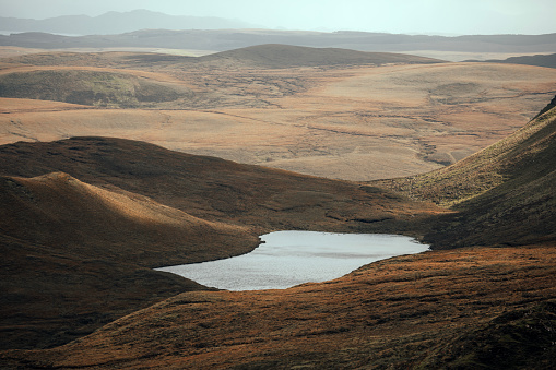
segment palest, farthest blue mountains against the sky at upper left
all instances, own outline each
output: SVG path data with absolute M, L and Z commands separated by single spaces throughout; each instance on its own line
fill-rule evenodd
M 46 20 L 0 17 L 2 31 L 45 32 L 67 35 L 110 35 L 146 28 L 251 28 L 252 24 L 212 16 L 176 16 L 147 10 L 108 12 L 98 16 L 64 15 Z

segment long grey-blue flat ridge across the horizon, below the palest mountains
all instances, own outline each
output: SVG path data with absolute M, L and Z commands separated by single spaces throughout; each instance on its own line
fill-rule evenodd
M 164 28 L 168 28 L 163 26 Z M 556 52 L 556 34 L 492 36 L 426 36 L 367 32 L 273 29 L 141 29 L 118 35 L 69 37 L 29 32 L 0 36 L 0 46 L 27 48 L 150 47 L 226 51 L 263 44 L 342 48 L 376 52 L 414 50 L 463 52 Z

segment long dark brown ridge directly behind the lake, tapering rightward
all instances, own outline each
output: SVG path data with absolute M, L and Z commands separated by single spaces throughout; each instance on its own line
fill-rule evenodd
M 90 184 L 149 196 L 194 217 L 250 225 L 261 231 L 388 231 L 405 228 L 415 217 L 442 212 L 430 203 L 374 187 L 121 139 L 19 142 L 0 146 L 0 175 L 36 177 L 62 171 Z

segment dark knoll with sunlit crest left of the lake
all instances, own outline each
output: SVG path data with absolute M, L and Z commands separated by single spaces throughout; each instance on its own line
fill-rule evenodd
M 247 228 L 62 172 L 0 177 L 0 348 L 60 345 L 164 298 L 206 289 L 146 267 L 257 244 Z

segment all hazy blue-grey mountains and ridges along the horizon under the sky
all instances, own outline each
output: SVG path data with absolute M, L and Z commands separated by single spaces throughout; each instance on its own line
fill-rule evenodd
M 0 46 L 44 49 L 133 47 L 226 51 L 262 44 L 284 44 L 383 52 L 556 53 L 556 34 L 448 37 L 351 31 L 276 31 L 260 29 L 257 25 L 237 20 L 175 16 L 147 10 L 108 12 L 95 17 L 0 17 L 0 28 L 12 33 L 10 36 L 0 35 Z

